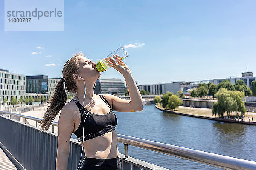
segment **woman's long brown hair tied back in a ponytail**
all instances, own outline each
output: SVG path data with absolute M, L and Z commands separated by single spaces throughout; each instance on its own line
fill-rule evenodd
M 47 131 L 52 124 L 54 118 L 58 115 L 59 111 L 63 108 L 67 101 L 67 94 L 66 91 L 71 93 L 77 92 L 76 82 L 73 79 L 73 74 L 77 74 L 79 72 L 79 56 L 85 55 L 81 52 L 78 54 L 73 55 L 71 59 L 69 59 L 64 68 L 62 70 L 63 79 L 61 79 L 49 99 L 49 106 L 44 113 L 44 118 L 39 121 L 40 123 L 40 132 Z M 66 91 L 65 91 L 66 90 Z

